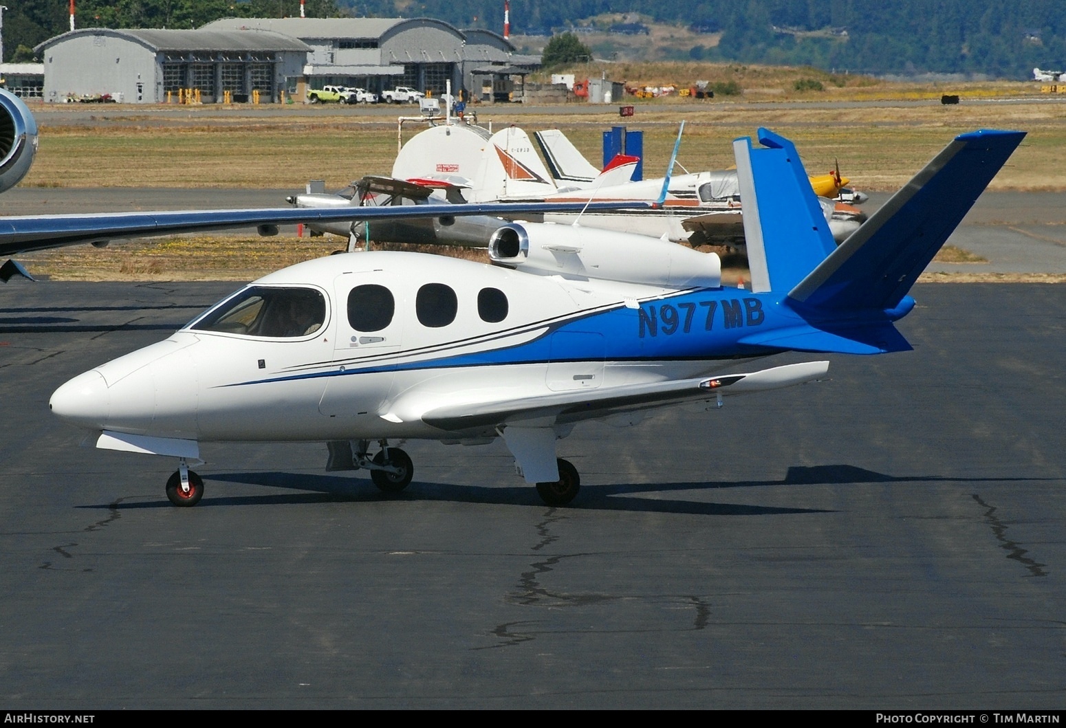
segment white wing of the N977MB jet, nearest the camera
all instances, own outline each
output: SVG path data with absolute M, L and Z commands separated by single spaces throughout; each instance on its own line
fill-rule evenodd
M 551 424 L 565 424 L 684 400 L 714 399 L 718 394 L 743 394 L 791 387 L 817 382 L 828 371 L 828 361 L 807 361 L 746 374 L 579 389 L 480 404 L 455 403 L 423 412 L 422 421 L 452 432 L 501 424 L 529 426 L 531 422 L 544 426 L 540 422 L 545 420 Z

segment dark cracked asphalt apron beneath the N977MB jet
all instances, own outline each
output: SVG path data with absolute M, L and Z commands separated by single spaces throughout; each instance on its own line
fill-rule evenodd
M 572 507 L 498 443 L 409 442 L 399 498 L 206 446 L 175 508 L 173 462 L 48 398 L 233 288 L 0 288 L 5 709 L 1062 708 L 1060 286 L 918 286 L 914 352 L 579 425 Z

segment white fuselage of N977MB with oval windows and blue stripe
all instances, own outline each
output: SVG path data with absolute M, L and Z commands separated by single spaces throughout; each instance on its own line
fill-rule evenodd
M 360 323 L 369 305 L 358 296 L 381 289 L 394 300 L 392 316 Z M 710 355 L 641 355 L 633 302 L 677 290 L 420 254 L 330 256 L 255 281 L 165 341 L 71 379 L 51 404 L 90 430 L 200 442 L 492 437 L 484 426 L 446 432 L 422 415 L 712 372 L 721 362 Z M 437 297 L 423 300 L 426 291 Z M 268 302 L 298 293 L 324 307 L 307 333 L 270 331 L 262 311 L 205 324 L 249 292 Z M 604 314 L 628 316 L 618 330 L 633 341 L 582 330 L 581 321 Z M 624 350 L 632 356 L 612 356 Z

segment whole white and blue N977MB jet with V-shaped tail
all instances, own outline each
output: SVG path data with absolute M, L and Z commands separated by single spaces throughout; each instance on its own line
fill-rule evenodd
M 98 448 L 177 457 L 165 488 L 177 505 L 204 494 L 189 469 L 201 442 L 325 441 L 327 469 L 366 468 L 395 492 L 414 466 L 390 439 L 498 437 L 563 505 L 580 476 L 555 443 L 578 422 L 633 423 L 827 371 L 749 368 L 781 352 L 908 350 L 893 326 L 915 306 L 907 292 L 1023 136 L 957 136 L 838 247 L 795 147 L 760 129 L 762 148 L 733 143 L 750 290 L 723 288 L 713 254 L 512 223 L 492 236 L 491 264 L 377 252 L 278 271 L 70 379 L 50 407 L 98 433 Z

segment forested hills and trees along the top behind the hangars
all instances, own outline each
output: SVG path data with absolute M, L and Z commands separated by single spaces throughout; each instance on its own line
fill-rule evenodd
M 3 16 L 4 60 L 12 60 L 19 45 L 32 47 L 65 31 L 67 4 L 11 3 Z M 605 30 L 641 21 L 619 16 L 621 11 L 706 32 L 708 42 L 694 46 L 692 58 L 714 61 L 1003 78 L 1028 77 L 1036 66 L 1066 66 L 1062 0 L 512 0 L 512 33 L 550 34 L 593 22 Z M 78 1 L 79 28 L 195 28 L 217 17 L 279 14 L 298 15 L 298 0 Z M 307 0 L 307 14 L 425 16 L 499 31 L 503 0 Z

